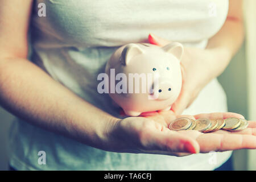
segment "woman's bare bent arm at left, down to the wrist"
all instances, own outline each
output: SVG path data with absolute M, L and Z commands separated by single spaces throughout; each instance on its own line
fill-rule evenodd
M 85 102 L 27 60 L 32 0 L 0 2 L 0 103 L 25 121 L 101 146 L 117 118 Z

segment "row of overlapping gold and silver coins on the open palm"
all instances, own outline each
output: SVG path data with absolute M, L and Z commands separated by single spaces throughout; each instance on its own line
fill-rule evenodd
M 246 119 L 227 118 L 227 119 L 207 119 L 199 118 L 196 120 L 189 118 L 178 118 L 170 123 L 169 129 L 197 130 L 203 133 L 209 133 L 217 130 L 242 131 L 249 125 Z

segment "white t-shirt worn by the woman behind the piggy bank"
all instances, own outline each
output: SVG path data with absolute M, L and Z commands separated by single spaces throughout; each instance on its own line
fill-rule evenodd
M 38 16 L 42 2 L 46 17 Z M 110 97 L 97 92 L 97 75 L 116 48 L 144 42 L 149 33 L 205 48 L 227 14 L 228 0 L 38 0 L 31 22 L 31 60 L 84 100 L 120 117 Z M 184 114 L 226 110 L 224 90 L 214 79 Z M 19 170 L 212 170 L 231 154 L 178 158 L 107 152 L 17 120 L 10 133 L 10 164 Z M 46 152 L 46 165 L 38 163 L 39 151 Z

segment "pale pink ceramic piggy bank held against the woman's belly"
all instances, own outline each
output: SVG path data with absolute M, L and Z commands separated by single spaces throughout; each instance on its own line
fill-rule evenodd
M 109 96 L 125 114 L 170 110 L 180 94 L 183 46 L 131 43 L 118 48 L 106 64 Z M 138 92 L 139 90 L 139 92 Z

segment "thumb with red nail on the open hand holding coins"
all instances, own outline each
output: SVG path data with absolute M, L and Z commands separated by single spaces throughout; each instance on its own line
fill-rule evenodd
M 160 115 L 159 115 L 160 116 Z M 130 117 L 123 119 L 121 129 L 125 132 L 119 137 L 125 137 L 132 146 L 137 144 L 139 151 L 145 153 L 149 151 L 158 151 L 155 154 L 172 155 L 173 152 L 185 152 L 195 154 L 200 151 L 197 141 L 186 135 L 171 131 L 162 124 L 148 118 Z M 125 135 L 127 133 L 127 135 Z

